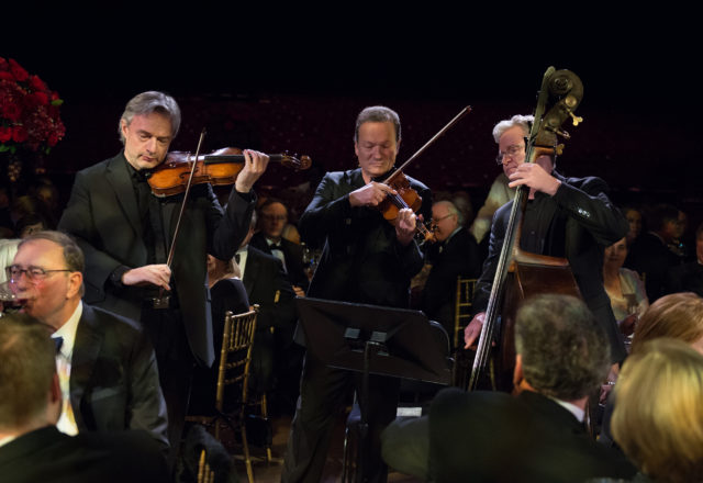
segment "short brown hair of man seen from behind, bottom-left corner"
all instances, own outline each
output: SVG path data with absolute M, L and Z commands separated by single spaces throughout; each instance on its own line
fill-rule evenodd
M 30 424 L 46 411 L 56 372 L 52 328 L 26 314 L 0 318 L 0 428 Z

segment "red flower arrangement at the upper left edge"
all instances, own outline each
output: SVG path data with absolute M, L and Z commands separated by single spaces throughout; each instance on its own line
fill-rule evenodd
M 0 57 L 0 153 L 25 147 L 47 154 L 66 134 L 63 103 L 38 76 Z

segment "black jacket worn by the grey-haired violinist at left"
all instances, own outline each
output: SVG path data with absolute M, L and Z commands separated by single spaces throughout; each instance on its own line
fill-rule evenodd
M 182 194 L 160 200 L 168 246 L 181 201 Z M 233 189 L 223 211 L 210 184 L 193 186 L 188 196 L 171 265 L 171 287 L 179 295 L 190 348 L 207 366 L 214 351 L 205 257 L 211 254 L 227 260 L 234 256 L 247 233 L 254 204 L 254 194 L 241 195 Z M 137 200 L 122 153 L 76 175 L 58 229 L 74 235 L 86 256 L 85 300 L 140 321 L 143 290 L 110 280 L 119 267 L 147 265 Z

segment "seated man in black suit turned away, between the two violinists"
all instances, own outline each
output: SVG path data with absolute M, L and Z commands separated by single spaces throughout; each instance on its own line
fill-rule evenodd
M 293 342 L 298 319 L 295 293 L 281 261 L 249 243 L 256 220 L 255 213 L 249 232 L 235 255 L 249 304 L 259 305 L 252 352 L 252 383 L 259 392 L 272 392 L 270 406 L 274 412 L 289 412 L 298 397 L 302 364 L 302 348 Z

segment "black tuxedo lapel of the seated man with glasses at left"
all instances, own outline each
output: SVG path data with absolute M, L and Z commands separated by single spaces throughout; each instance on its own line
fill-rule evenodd
M 70 404 L 78 430 L 86 429 L 86 423 L 80 411 L 86 387 L 92 378 L 96 361 L 102 347 L 102 332 L 93 310 L 83 304 L 83 311 L 76 330 L 76 342 L 70 369 Z

